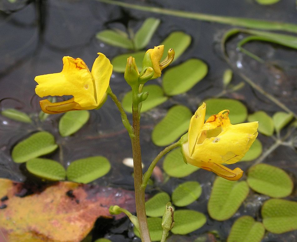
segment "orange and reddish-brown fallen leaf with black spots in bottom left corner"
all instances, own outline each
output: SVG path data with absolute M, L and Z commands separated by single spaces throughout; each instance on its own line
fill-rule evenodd
M 0 242 L 79 242 L 98 217 L 111 217 L 110 205 L 135 211 L 134 193 L 123 189 L 57 182 L 20 197 L 27 190 L 0 179 Z

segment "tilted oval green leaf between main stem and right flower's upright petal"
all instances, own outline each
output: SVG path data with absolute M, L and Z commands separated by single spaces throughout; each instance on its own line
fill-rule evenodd
M 170 108 L 166 116 L 154 127 L 153 143 L 165 146 L 179 139 L 189 129 L 192 115 L 191 110 L 182 105 Z

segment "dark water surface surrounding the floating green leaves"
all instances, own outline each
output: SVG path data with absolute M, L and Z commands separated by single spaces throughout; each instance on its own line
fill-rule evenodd
M 271 6 L 261 6 L 253 0 L 245 1 L 130 1 L 155 7 L 185 10 L 199 13 L 209 13 L 224 16 L 258 18 L 280 22 L 297 23 L 295 1 L 281 0 Z M 160 14 L 147 13 L 111 6 L 97 1 L 17 1 L 14 4 L 6 0 L 0 1 L 0 98 L 8 98 L 1 102 L 1 108 L 17 108 L 38 120 L 40 111 L 38 100 L 34 94 L 36 83 L 34 77 L 45 73 L 55 73 L 62 69 L 62 57 L 72 56 L 82 58 L 89 66 L 97 56 L 97 52 L 104 53 L 108 58 L 125 53 L 122 48 L 109 46 L 95 38 L 98 31 L 118 27 L 125 30 L 127 27 L 138 29 L 148 17 L 161 19 L 161 24 L 148 48 L 158 45 L 173 31 L 183 31 L 192 37 L 192 43 L 183 56 L 175 64 L 189 58 L 200 58 L 209 67 L 207 76 L 194 86 L 185 95 L 170 98 L 169 101 L 158 108 L 143 114 L 141 143 L 143 163 L 148 167 L 151 160 L 162 149 L 152 144 L 150 135 L 154 124 L 165 115 L 166 110 L 174 103 L 187 105 L 192 111 L 205 98 L 214 97 L 222 90 L 222 75 L 228 64 L 222 58 L 219 42 L 229 25 L 207 23 L 197 20 L 176 18 Z M 227 51 L 236 71 L 246 74 L 254 82 L 261 85 L 265 91 L 277 97 L 294 112 L 297 111 L 297 61 L 296 51 L 269 43 L 253 42 L 247 44 L 249 50 L 263 58 L 266 63 L 259 64 L 248 56 L 236 50 L 236 43 L 244 35 L 238 35 L 227 44 Z M 234 73 L 234 84 L 242 79 Z M 159 81 L 154 81 L 158 83 Z M 129 90 L 123 75 L 113 73 L 110 86 L 114 93 L 122 98 Z M 269 115 L 282 111 L 258 92 L 252 90 L 248 84 L 236 94 L 225 97 L 237 98 L 248 108 L 249 113 L 264 110 Z M 129 118 L 131 118 L 129 116 Z M 44 123 L 36 122 L 34 125 L 18 123 L 0 116 L 0 177 L 24 181 L 25 172 L 18 164 L 13 163 L 10 152 L 18 140 L 28 137 L 36 130 L 52 132 L 57 143 L 63 151 L 55 152 L 50 157 L 60 160 L 65 167 L 73 160 L 92 155 L 104 155 L 111 164 L 109 174 L 98 180 L 104 185 L 120 186 L 133 189 L 132 169 L 124 166 L 122 160 L 131 157 L 130 140 L 123 129 L 116 106 L 111 100 L 99 110 L 91 111 L 88 123 L 75 135 L 61 138 L 58 135 L 59 115 L 51 116 Z M 259 134 L 264 149 L 272 143 L 271 138 Z M 63 158 L 63 159 L 61 159 Z M 294 179 L 296 185 L 297 165 L 296 153 L 287 147 L 279 147 L 265 163 L 276 165 L 286 170 Z M 246 170 L 252 163 L 240 163 L 238 166 Z M 173 187 L 184 180 L 197 180 L 202 184 L 203 194 L 198 201 L 188 208 L 196 209 L 207 214 L 207 199 L 215 175 L 203 170 L 191 174 L 186 179 L 171 178 L 165 184 L 159 184 L 166 192 L 171 193 Z M 154 188 L 148 190 L 154 192 Z M 297 200 L 294 195 L 291 200 Z M 217 230 L 222 240 L 226 239 L 231 225 L 238 217 L 249 214 L 259 217 L 259 208 L 267 196 L 250 193 L 249 198 L 231 219 L 218 222 L 208 217 L 207 224 L 193 232 L 197 236 L 211 230 Z M 128 221 L 116 224 L 114 229 L 106 229 L 113 241 L 131 241 L 127 238 Z M 100 226 L 99 226 L 100 227 Z M 103 230 L 105 231 L 105 230 Z M 104 232 L 100 232 L 104 235 Z M 296 232 L 282 235 L 267 233 L 263 241 L 295 241 Z M 188 238 L 191 241 L 193 237 Z M 194 240 L 194 239 L 193 239 Z

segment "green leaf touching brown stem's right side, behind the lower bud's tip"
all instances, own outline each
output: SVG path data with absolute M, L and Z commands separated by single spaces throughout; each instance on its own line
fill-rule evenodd
M 165 206 L 170 201 L 166 192 L 160 192 L 145 202 L 146 215 L 150 217 L 163 216 Z

